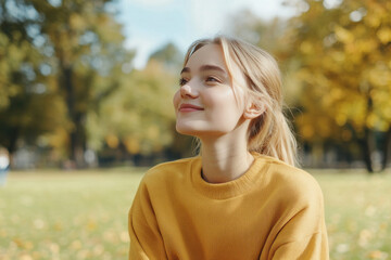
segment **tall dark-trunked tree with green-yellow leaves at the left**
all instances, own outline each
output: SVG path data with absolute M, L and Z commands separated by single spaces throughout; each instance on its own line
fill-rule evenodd
M 66 99 L 70 130 L 70 155 L 83 166 L 86 150 L 86 117 L 119 86 L 122 66 L 131 54 L 123 49 L 121 25 L 106 11 L 108 0 L 64 0 L 53 6 L 36 1 L 46 14 L 42 32 L 53 46 L 61 91 Z M 110 78 L 110 80 L 104 80 Z

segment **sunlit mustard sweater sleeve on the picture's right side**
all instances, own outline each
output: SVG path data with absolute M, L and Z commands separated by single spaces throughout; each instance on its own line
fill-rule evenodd
M 287 218 L 281 221 L 272 248 L 272 259 L 328 260 L 324 198 L 317 184 L 301 186 L 287 200 Z

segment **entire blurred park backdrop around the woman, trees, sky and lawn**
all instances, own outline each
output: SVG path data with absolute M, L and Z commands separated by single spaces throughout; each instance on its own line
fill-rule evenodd
M 216 34 L 278 60 L 331 259 L 391 258 L 391 1 L 0 0 L 1 260 L 126 259 L 142 167 L 194 154 L 172 98 Z

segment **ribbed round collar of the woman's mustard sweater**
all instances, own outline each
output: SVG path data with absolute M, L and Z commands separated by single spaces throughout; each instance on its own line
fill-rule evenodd
M 192 186 L 201 194 L 215 198 L 227 199 L 249 192 L 254 185 L 260 185 L 261 179 L 267 171 L 265 164 L 268 157 L 252 153 L 254 161 L 249 170 L 236 180 L 225 183 L 209 183 L 201 177 L 202 157 L 194 157 L 190 165 L 190 178 Z

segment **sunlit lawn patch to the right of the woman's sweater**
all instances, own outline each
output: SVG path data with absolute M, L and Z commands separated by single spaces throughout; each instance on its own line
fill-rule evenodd
M 330 259 L 391 259 L 391 171 L 310 172 L 324 192 Z

